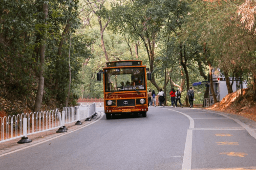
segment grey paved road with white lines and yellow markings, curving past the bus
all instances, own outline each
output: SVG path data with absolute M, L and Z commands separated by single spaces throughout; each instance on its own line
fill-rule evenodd
M 0 169 L 256 169 L 255 132 L 203 109 L 151 107 L 0 157 Z M 252 136 L 251 136 L 252 135 Z

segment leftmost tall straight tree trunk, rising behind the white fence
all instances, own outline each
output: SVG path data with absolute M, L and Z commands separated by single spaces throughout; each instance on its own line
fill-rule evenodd
M 48 4 L 45 3 L 42 6 L 42 11 L 44 12 L 44 21 L 45 25 L 47 25 L 46 18 L 48 17 Z M 45 78 L 44 78 L 44 71 L 45 71 L 45 36 L 46 31 L 44 30 L 44 33 L 42 35 L 42 39 L 40 42 L 40 75 L 39 75 L 39 84 L 38 84 L 38 90 L 36 94 L 36 100 L 35 100 L 35 106 L 34 106 L 34 112 L 39 112 L 41 109 L 42 104 L 42 96 L 44 95 L 44 84 L 45 84 Z

